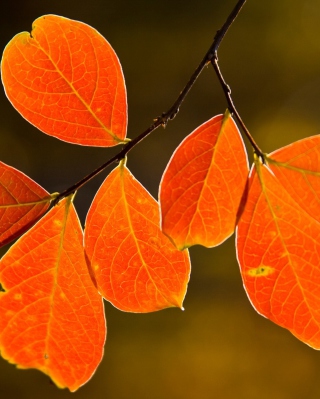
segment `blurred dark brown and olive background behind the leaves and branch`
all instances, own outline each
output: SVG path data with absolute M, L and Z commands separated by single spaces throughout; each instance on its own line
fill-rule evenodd
M 128 137 L 134 138 L 184 87 L 236 0 L 2 0 L 0 48 L 34 19 L 58 14 L 83 21 L 117 52 L 126 79 Z M 219 59 L 234 102 L 265 152 L 320 132 L 318 0 L 248 0 Z M 179 142 L 223 113 L 213 69 L 195 84 L 174 121 L 129 155 L 128 167 L 157 197 Z M 62 191 L 118 151 L 86 148 L 44 135 L 0 93 L 0 160 L 48 191 Z M 251 155 L 251 150 L 248 147 Z M 82 222 L 106 174 L 78 193 Z M 108 340 L 93 378 L 71 394 L 35 370 L 0 358 L 0 397 L 10 399 L 319 398 L 320 353 L 259 316 L 243 290 L 234 237 L 191 249 L 185 311 L 122 313 L 106 304 Z

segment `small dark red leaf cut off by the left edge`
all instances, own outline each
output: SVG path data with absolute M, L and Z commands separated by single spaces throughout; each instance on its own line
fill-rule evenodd
M 28 230 L 48 209 L 50 200 L 44 188 L 0 162 L 0 246 Z

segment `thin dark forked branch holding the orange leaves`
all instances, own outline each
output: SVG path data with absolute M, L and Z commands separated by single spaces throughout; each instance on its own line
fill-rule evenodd
M 100 172 L 102 172 L 105 168 L 107 168 L 112 163 L 119 162 L 121 159 L 123 159 L 128 154 L 128 152 L 130 150 L 132 150 L 133 147 L 135 147 L 138 143 L 140 143 L 150 133 L 152 133 L 154 130 L 156 130 L 159 126 L 165 127 L 170 120 L 174 119 L 174 117 L 179 112 L 181 104 L 183 103 L 183 101 L 186 98 L 187 94 L 191 90 L 191 88 L 194 85 L 195 81 L 200 76 L 200 74 L 203 71 L 204 67 L 209 62 L 213 62 L 213 65 L 214 65 L 214 62 L 215 62 L 214 60 L 216 60 L 216 62 L 217 62 L 217 60 L 218 60 L 217 51 L 218 51 L 218 48 L 220 46 L 220 43 L 222 42 L 225 34 L 229 30 L 230 26 L 232 25 L 233 21 L 235 20 L 235 18 L 239 14 L 240 10 L 242 9 L 242 7 L 243 7 L 243 5 L 245 4 L 246 1 L 247 0 L 239 0 L 237 2 L 236 6 L 234 7 L 234 9 L 231 11 L 230 15 L 228 16 L 226 22 L 223 24 L 222 28 L 217 31 L 217 33 L 216 33 L 216 35 L 214 37 L 213 43 L 210 46 L 209 50 L 207 51 L 206 55 L 203 57 L 202 61 L 200 62 L 200 64 L 198 65 L 198 67 L 196 68 L 194 73 L 191 75 L 189 81 L 185 85 L 184 89 L 181 91 L 181 93 L 179 94 L 178 98 L 173 103 L 173 105 L 168 109 L 168 111 L 164 112 L 161 116 L 158 116 L 156 119 L 154 119 L 154 123 L 151 126 L 149 126 L 147 130 L 145 130 L 143 133 L 141 133 L 135 139 L 133 139 L 133 140 L 129 141 L 127 144 L 125 144 L 124 147 L 122 148 L 122 150 L 118 154 L 116 154 L 115 156 L 110 158 L 107 162 L 105 162 L 99 168 L 97 168 L 96 170 L 91 172 L 89 175 L 87 175 L 86 177 L 84 177 L 83 179 L 78 181 L 73 186 L 71 186 L 71 187 L 67 188 L 66 190 L 64 190 L 63 192 L 61 192 L 52 201 L 53 205 L 57 204 L 61 199 L 63 199 L 65 197 L 67 197 L 68 195 L 74 193 L 76 190 L 81 188 L 83 185 L 85 185 L 88 181 L 90 181 L 95 176 L 97 176 Z M 218 76 L 220 76 L 222 78 L 221 74 L 218 75 Z M 222 78 L 222 81 L 224 82 L 223 78 Z M 227 85 L 225 85 L 225 86 L 228 87 Z M 225 90 L 225 86 L 223 85 L 224 92 L 227 93 L 226 90 Z M 229 104 L 229 107 L 230 107 L 230 111 L 233 112 L 237 116 L 238 113 L 237 113 L 237 111 L 236 111 L 236 109 L 235 109 L 235 107 L 234 107 L 234 105 L 232 103 L 230 93 L 231 93 L 231 91 L 229 89 L 229 96 L 227 97 L 227 101 L 228 101 L 228 104 Z M 228 100 L 228 98 L 230 98 L 230 99 Z M 237 119 L 238 119 L 238 116 L 237 116 Z M 239 120 L 240 125 L 243 127 L 244 124 L 242 124 L 240 122 L 240 119 L 238 119 L 238 120 Z M 244 129 L 244 131 L 247 134 L 248 131 L 247 131 L 246 128 Z M 250 135 L 250 133 L 249 133 L 249 135 Z M 258 147 L 256 145 L 254 145 L 254 148 L 257 151 Z M 259 155 L 262 155 L 260 150 L 259 150 Z

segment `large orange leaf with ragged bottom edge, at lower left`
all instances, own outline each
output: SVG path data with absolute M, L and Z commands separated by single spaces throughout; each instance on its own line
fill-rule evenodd
M 70 198 L 51 209 L 0 263 L 1 356 L 61 388 L 86 383 L 103 355 L 102 298 L 88 273 Z

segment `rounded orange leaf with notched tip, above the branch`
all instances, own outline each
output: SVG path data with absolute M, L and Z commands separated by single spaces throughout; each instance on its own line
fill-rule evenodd
M 6 46 L 2 81 L 12 105 L 34 126 L 69 143 L 113 146 L 127 128 L 119 60 L 92 27 L 45 15 Z

